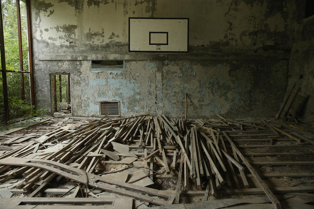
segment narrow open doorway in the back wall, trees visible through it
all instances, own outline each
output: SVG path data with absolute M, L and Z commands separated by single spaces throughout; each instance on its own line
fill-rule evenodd
M 71 86 L 69 73 L 50 74 L 51 116 L 67 117 L 72 115 Z

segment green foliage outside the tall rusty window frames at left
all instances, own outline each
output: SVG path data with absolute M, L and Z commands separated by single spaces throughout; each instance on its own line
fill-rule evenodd
M 15 0 L 2 0 L 3 16 L 3 36 L 5 48 L 6 70 L 20 71 L 19 62 L 19 38 L 18 38 L 18 21 Z M 22 30 L 22 49 L 28 49 L 27 24 L 26 24 L 26 5 L 20 1 L 21 11 L 21 30 Z M 1 66 L 1 63 L 0 63 Z M 23 51 L 23 70 L 28 69 L 28 51 Z M 0 122 L 3 121 L 4 102 L 3 102 L 3 80 L 0 74 Z M 36 110 L 30 106 L 30 80 L 29 73 L 24 74 L 25 100 L 21 100 L 21 74 L 7 72 L 8 100 L 9 100 L 9 117 L 27 118 L 43 114 L 45 110 Z

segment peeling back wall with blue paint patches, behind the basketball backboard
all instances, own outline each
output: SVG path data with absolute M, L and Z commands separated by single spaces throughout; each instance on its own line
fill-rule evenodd
M 273 116 L 289 59 L 285 1 L 31 1 L 35 100 L 51 109 L 49 74 L 71 75 L 74 116 L 99 116 L 120 100 L 122 116 Z M 189 53 L 129 53 L 128 17 L 190 18 Z M 91 72 L 89 60 L 126 60 Z

